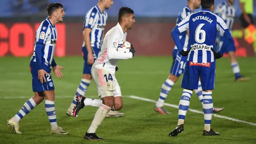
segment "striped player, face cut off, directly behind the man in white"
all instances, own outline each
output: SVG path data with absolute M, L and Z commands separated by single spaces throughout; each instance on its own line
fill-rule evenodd
M 84 41 L 82 45 L 84 70 L 80 86 L 78 86 L 74 99 L 67 111 L 69 116 L 73 116 L 72 112 L 74 106 L 76 106 L 76 97 L 78 95 L 84 96 L 88 86 L 92 82 L 91 68 L 100 52 L 100 46 L 102 45 L 104 38 L 104 29 L 108 18 L 108 14 L 105 10 L 108 10 L 112 4 L 113 0 L 99 0 L 98 4 L 92 7 L 85 16 L 83 28 Z M 87 98 L 84 103 L 86 106 L 99 108 L 102 104 L 102 100 Z M 124 113 L 111 110 L 107 114 L 107 117 L 118 117 L 123 115 Z

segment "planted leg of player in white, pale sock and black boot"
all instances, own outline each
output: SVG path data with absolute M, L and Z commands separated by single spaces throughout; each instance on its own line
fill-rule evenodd
M 108 112 L 113 108 L 115 102 L 114 102 L 114 96 L 106 96 L 102 98 L 102 105 L 95 113 L 94 119 L 92 120 L 92 124 L 90 125 L 90 128 L 87 130 L 86 134 L 84 134 L 84 138 L 88 140 L 103 140 L 104 138 L 100 138 L 95 134 L 98 126 L 102 123 Z M 119 108 L 122 108 L 122 104 L 117 104 L 120 106 Z

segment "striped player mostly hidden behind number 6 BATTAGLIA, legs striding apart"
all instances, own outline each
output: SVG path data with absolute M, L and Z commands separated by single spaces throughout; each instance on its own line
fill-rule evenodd
M 186 16 L 193 13 L 193 11 L 197 8 L 200 8 L 200 0 L 188 0 L 188 5 L 185 6 L 182 10 L 182 12 L 179 14 L 177 18 L 176 25 L 178 25 Z M 183 46 L 184 50 L 188 50 L 189 45 L 189 31 L 184 31 L 180 33 L 180 40 Z M 158 98 L 158 102 L 155 105 L 154 110 L 156 112 L 159 112 L 160 114 L 170 114 L 167 110 L 164 108 L 164 100 L 168 96 L 170 90 L 172 89 L 172 86 L 174 83 L 178 81 L 178 78 L 180 75 L 184 72 L 187 56 L 182 56 L 178 53 L 178 49 L 175 46 L 173 53 L 173 62 L 172 62 L 172 68 L 170 70 L 170 76 L 169 78 L 162 84 L 160 96 Z M 196 95 L 198 96 L 201 103 L 203 103 L 203 95 L 202 95 L 202 86 L 201 82 L 198 82 L 198 89 L 194 90 L 196 92 Z M 214 113 L 220 112 L 223 110 L 223 108 L 215 108 L 214 107 Z

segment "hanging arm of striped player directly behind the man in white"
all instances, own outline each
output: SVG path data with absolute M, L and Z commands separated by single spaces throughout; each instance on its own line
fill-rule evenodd
M 96 15 L 94 12 L 90 13 L 90 15 L 86 16 L 85 23 L 84 23 L 84 43 L 86 46 L 86 50 L 88 52 L 88 64 L 92 65 L 94 63 L 94 57 L 92 53 L 92 47 L 91 47 L 91 40 L 90 40 L 90 33 L 92 32 L 92 28 L 98 21 L 98 15 Z

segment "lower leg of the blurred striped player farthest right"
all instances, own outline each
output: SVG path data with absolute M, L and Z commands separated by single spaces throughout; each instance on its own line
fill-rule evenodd
M 233 73 L 235 75 L 235 80 L 238 81 L 248 81 L 249 78 L 246 78 L 242 75 L 240 75 L 240 68 L 238 65 L 238 62 L 236 61 L 236 53 L 233 51 L 228 52 L 228 55 L 230 56 L 230 63 L 233 70 Z

